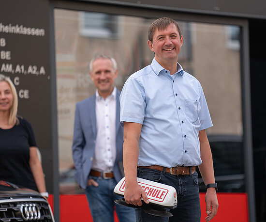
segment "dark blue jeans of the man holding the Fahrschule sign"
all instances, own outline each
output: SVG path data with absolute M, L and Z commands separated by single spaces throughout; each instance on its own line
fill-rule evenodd
M 177 190 L 177 208 L 171 209 L 173 217 L 156 217 L 136 208 L 136 222 L 200 222 L 198 173 L 171 175 L 158 170 L 138 168 L 137 177 L 174 187 Z

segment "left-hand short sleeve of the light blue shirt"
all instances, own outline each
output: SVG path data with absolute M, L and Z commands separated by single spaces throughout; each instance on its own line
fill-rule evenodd
M 123 127 L 124 121 L 143 124 L 145 108 L 143 84 L 138 79 L 130 77 L 120 95 L 120 126 Z

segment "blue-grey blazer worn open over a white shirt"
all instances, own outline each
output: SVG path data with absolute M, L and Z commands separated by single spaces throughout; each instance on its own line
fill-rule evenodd
M 116 145 L 117 157 L 114 165 L 114 176 L 118 182 L 121 178 L 119 165 L 123 158 L 123 128 L 120 127 L 120 91 L 117 90 L 117 114 L 116 114 Z M 96 95 L 92 95 L 76 104 L 74 121 L 74 138 L 72 154 L 75 165 L 75 178 L 78 184 L 86 189 L 89 172 L 94 157 L 96 141 Z

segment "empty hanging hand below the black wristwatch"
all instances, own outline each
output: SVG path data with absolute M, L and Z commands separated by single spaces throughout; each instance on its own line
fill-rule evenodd
M 208 188 L 205 196 L 206 202 L 206 213 L 207 217 L 205 220 L 209 222 L 217 213 L 218 210 L 218 199 L 215 188 Z

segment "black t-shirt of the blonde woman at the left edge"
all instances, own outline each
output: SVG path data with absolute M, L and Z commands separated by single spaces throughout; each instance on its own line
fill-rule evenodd
M 36 146 L 33 130 L 27 120 L 18 119 L 13 128 L 0 128 L 0 179 L 37 190 L 30 170 L 30 146 Z

